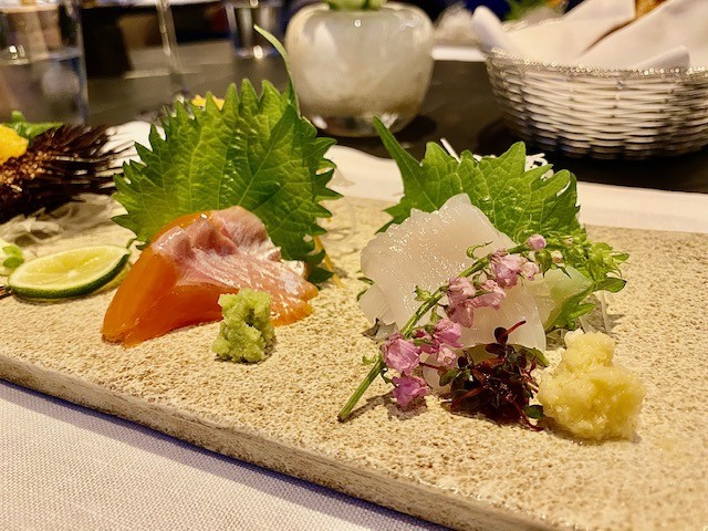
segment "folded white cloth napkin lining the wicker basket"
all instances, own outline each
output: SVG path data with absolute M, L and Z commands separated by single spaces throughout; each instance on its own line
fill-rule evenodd
M 667 0 L 635 21 L 634 0 L 585 0 L 556 21 L 504 31 L 487 8 L 472 28 L 485 48 L 600 69 L 708 65 L 708 0 Z

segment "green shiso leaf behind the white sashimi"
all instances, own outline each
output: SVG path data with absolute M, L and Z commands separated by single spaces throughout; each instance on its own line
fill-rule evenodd
M 551 166 L 527 171 L 521 142 L 503 155 L 483 157 L 479 163 L 470 152 L 464 152 L 458 162 L 430 143 L 418 163 L 381 121 L 376 119 L 375 127 L 403 177 L 404 196 L 386 210 L 393 218 L 391 223 L 408 218 L 412 208 L 431 212 L 465 192 L 498 230 L 516 241 L 533 233 L 571 233 L 581 228 L 575 176 L 565 170 L 553 174 Z

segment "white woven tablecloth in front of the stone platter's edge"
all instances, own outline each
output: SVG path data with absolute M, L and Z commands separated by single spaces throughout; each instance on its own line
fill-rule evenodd
M 441 531 L 2 381 L 0 419 L 2 530 Z

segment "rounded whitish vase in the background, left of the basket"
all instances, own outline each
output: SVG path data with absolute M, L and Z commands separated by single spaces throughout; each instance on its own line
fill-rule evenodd
M 430 83 L 433 25 L 413 6 L 309 6 L 288 25 L 285 48 L 302 113 L 334 135 L 375 135 L 374 116 L 400 129 Z

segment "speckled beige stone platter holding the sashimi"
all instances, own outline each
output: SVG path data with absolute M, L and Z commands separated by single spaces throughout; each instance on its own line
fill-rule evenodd
M 592 229 L 632 256 L 610 313 L 616 361 L 647 387 L 636 440 L 581 444 L 454 416 L 434 397 L 402 414 L 381 381 L 339 424 L 373 352 L 358 334 L 356 251 L 385 220 L 378 204 L 348 205 L 356 235 L 329 244 L 345 288 L 324 289 L 312 316 L 279 329 L 260 365 L 216 362 L 216 324 L 106 344 L 108 292 L 0 301 L 0 377 L 452 528 L 708 525 L 708 236 Z M 55 247 L 127 236 L 105 228 Z

